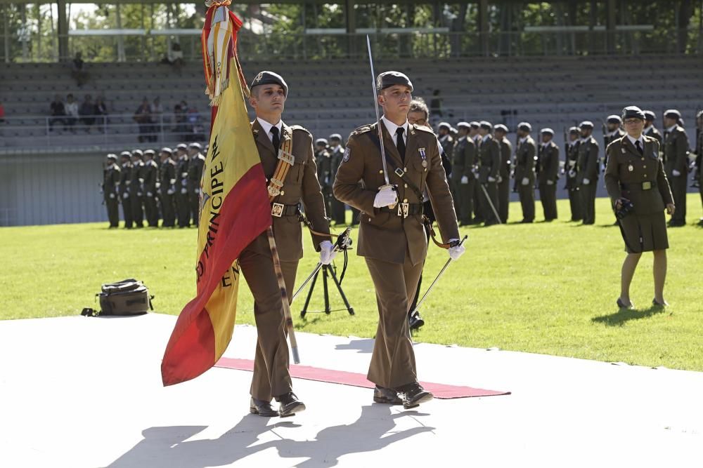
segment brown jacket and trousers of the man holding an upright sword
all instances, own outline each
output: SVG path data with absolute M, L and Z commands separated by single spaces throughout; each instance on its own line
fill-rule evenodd
M 418 198 L 415 190 L 394 173 L 394 167 L 405 171 L 420 192 L 427 190 L 444 242 L 458 239 L 459 232 L 434 133 L 425 127 L 408 126 L 403 160 L 385 125 L 382 131 L 388 177 L 390 183 L 397 185 L 398 206 L 373 206 L 378 187 L 385 185 L 377 146 L 378 123 L 357 128 L 349 135 L 334 193 L 340 201 L 363 212 L 358 254 L 366 258 L 379 314 L 368 380 L 392 389 L 418 380 L 408 307 L 427 256 L 427 237 L 421 220 L 422 194 Z M 407 217 L 401 203 L 408 203 Z

